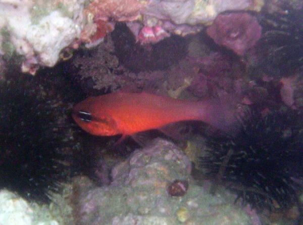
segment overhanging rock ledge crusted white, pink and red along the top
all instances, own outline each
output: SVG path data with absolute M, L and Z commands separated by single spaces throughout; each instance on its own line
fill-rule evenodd
M 0 54 L 19 57 L 23 72 L 53 67 L 62 52 L 96 46 L 117 21 L 128 22 L 136 40 L 157 42 L 170 33 L 196 33 L 227 10 L 256 10 L 261 0 L 224 4 L 207 1 L 34 1 L 0 3 Z M 119 6 L 119 7 L 118 7 Z M 72 54 L 71 54 L 72 56 Z

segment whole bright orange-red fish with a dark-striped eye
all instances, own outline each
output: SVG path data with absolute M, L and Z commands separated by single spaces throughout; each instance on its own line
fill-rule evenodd
M 120 140 L 186 120 L 204 121 L 228 131 L 234 122 L 233 115 L 229 104 L 221 100 L 193 102 L 125 92 L 89 97 L 78 103 L 72 112 L 76 123 L 88 133 L 96 136 L 122 134 Z

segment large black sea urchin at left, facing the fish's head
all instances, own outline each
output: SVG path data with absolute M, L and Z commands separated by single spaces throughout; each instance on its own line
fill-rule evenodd
M 48 97 L 36 77 L 20 75 L 0 86 L 0 188 L 41 202 L 58 190 L 66 170 L 56 100 Z

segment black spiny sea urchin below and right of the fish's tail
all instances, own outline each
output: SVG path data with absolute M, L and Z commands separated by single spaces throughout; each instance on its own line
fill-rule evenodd
M 236 137 L 210 137 L 201 166 L 254 208 L 286 208 L 303 186 L 302 134 L 300 113 L 252 113 Z

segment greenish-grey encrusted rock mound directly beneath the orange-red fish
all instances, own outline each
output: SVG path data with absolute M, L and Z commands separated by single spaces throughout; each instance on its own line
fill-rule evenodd
M 211 196 L 194 185 L 188 158 L 168 141 L 156 139 L 112 169 L 109 186 L 74 181 L 74 210 L 79 224 L 250 224 L 246 212 L 224 191 Z M 183 196 L 170 196 L 169 185 L 188 182 Z M 183 189 L 185 190 L 185 189 Z

